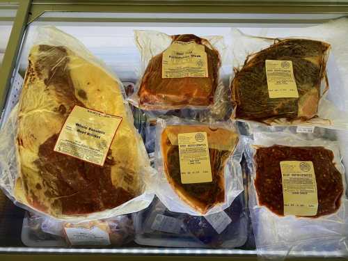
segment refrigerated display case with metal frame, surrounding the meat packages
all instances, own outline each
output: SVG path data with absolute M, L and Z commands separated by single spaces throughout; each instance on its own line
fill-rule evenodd
M 251 35 L 280 38 L 286 35 L 287 30 L 324 24 L 331 19 L 348 15 L 347 1 L 74 1 L 72 3 L 69 1 L 22 0 L 10 1 L 11 8 L 17 9 L 17 12 L 11 9 L 12 13 L 9 13 L 9 7 L 1 9 L 2 6 L 5 6 L 2 3 L 8 2 L 0 0 L 1 33 L 5 30 L 1 27 L 1 21 L 10 20 L 8 17 L 11 14 L 13 17 L 13 22 L 8 22 L 12 26 L 12 31 L 8 35 L 6 54 L 0 70 L 1 127 L 13 106 L 18 102 L 22 90 L 19 79 L 24 77 L 26 72 L 29 49 L 35 40 L 35 29 L 38 26 L 56 26 L 74 36 L 90 52 L 102 59 L 120 77 L 125 86 L 132 86 L 139 80 L 141 70 L 141 57 L 134 42 L 134 30 L 155 30 L 168 35 L 180 33 L 223 35 L 226 37 L 226 45 L 229 46 L 231 29 L 239 29 L 243 33 Z M 2 13 L 5 15 L 1 15 Z M 0 39 L 0 44 L 2 41 L 3 39 Z M 226 65 L 223 70 L 226 72 L 223 81 L 229 85 L 228 72 L 232 72 L 233 68 L 231 65 Z M 342 92 L 342 95 L 329 95 L 329 99 L 343 111 L 348 111 L 347 91 Z M 141 111 L 134 109 L 134 118 L 136 120 L 134 123 L 141 132 L 145 145 L 146 138 L 150 141 L 147 149 L 151 155 L 153 144 L 147 136 L 150 135 L 151 128 L 144 124 L 146 117 Z M 333 129 L 326 129 L 322 132 L 325 132 L 326 136 L 335 137 L 334 139 L 340 142 L 343 164 L 347 165 L 348 132 Z M 245 177 L 244 180 L 247 178 Z M 190 247 L 177 247 L 180 246 L 177 244 L 180 239 L 177 239 L 176 236 L 175 244 L 177 246 L 175 245 L 175 247 L 161 246 L 158 243 L 161 240 L 160 237 L 156 238 L 157 244 L 154 246 L 137 244 L 136 242 L 141 242 L 140 236 L 138 240 L 124 246 L 68 246 L 61 238 L 55 245 L 52 237 L 49 239 L 35 237 L 33 235 L 35 231 L 31 232 L 28 229 L 35 228 L 35 223 L 31 227 L 28 225 L 28 214 L 24 209 L 13 205 L 2 194 L 1 196 L 1 202 L 3 202 L 0 213 L 1 260 L 10 258 L 35 258 L 35 260 L 71 258 L 77 260 L 79 258 L 100 258 L 101 256 L 127 259 L 257 259 L 250 226 L 248 228 L 250 238 L 246 239 L 243 246 L 237 248 L 200 247 L 201 244 L 197 242 L 191 244 Z M 248 196 L 245 196 L 247 201 Z M 134 216 L 132 218 L 134 220 Z M 137 226 L 141 226 L 141 224 L 137 224 Z M 186 237 L 185 235 L 184 240 L 187 240 Z M 171 240 L 171 237 L 168 238 L 166 240 Z M 42 242 L 46 242 L 46 244 Z M 64 257 L 61 256 L 62 254 Z M 269 253 L 269 255 L 271 254 Z M 277 253 L 274 254 L 276 257 Z M 347 258 L 345 254 L 342 251 L 317 249 L 308 252 L 292 251 L 289 253 L 289 257 L 318 260 L 320 258 Z

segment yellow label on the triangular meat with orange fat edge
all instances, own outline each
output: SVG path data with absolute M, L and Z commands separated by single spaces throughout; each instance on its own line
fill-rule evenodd
M 177 135 L 182 184 L 212 182 L 207 132 Z

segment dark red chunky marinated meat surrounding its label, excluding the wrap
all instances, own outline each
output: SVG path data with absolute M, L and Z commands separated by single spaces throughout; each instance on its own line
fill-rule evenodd
M 312 161 L 317 182 L 317 218 L 336 212 L 343 193 L 342 174 L 335 168 L 333 152 L 323 147 L 288 147 L 273 145 L 256 150 L 255 189 L 259 205 L 284 215 L 283 183 L 280 161 Z

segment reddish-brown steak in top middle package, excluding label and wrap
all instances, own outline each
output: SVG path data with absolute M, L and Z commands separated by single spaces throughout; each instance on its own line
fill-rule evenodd
M 173 35 L 173 42 L 196 42 L 204 45 L 208 77 L 163 78 L 163 53 L 154 56 L 139 86 L 140 105 L 144 109 L 182 109 L 186 106 L 209 106 L 213 103 L 221 66 L 219 53 L 196 35 Z

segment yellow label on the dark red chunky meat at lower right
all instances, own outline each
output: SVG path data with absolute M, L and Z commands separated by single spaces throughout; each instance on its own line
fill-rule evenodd
M 312 161 L 280 161 L 284 215 L 315 216 L 317 182 Z

